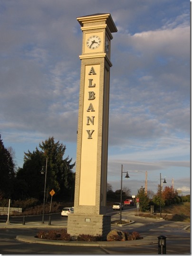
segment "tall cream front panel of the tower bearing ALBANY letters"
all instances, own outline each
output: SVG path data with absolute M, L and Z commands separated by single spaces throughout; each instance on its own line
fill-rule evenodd
M 80 205 L 95 205 L 96 202 L 96 173 L 97 173 L 97 144 L 99 122 L 99 77 L 100 64 L 86 65 L 83 102 L 83 129 L 81 149 L 80 183 L 86 182 L 79 191 Z M 85 197 L 86 191 L 86 197 Z

